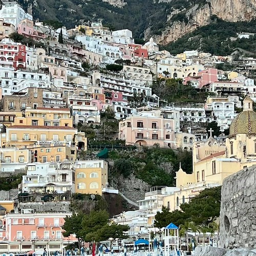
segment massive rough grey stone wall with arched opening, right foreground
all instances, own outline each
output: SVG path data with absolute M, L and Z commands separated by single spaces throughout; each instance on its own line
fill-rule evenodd
M 221 189 L 222 248 L 256 248 L 256 166 L 226 178 Z

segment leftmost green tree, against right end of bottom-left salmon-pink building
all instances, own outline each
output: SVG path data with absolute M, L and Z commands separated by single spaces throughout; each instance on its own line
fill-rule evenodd
M 75 234 L 78 240 L 79 249 L 81 248 L 82 238 L 82 218 L 83 214 L 73 214 L 71 217 L 65 218 L 65 223 L 62 226 L 63 237 L 69 237 L 71 234 Z

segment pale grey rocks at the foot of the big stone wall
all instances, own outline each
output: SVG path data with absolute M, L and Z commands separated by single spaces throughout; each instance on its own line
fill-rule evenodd
M 255 256 L 256 250 L 249 248 L 239 248 L 233 250 L 225 250 L 211 246 L 196 247 L 195 256 Z

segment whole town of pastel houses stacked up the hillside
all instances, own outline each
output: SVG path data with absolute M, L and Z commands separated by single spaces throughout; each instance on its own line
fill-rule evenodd
M 155 217 L 163 207 L 181 210 L 256 164 L 256 58 L 173 56 L 153 38 L 138 44 L 132 31 L 112 31 L 100 19 L 66 29 L 2 2 L 0 177 L 21 182 L 0 191 L 0 254 L 71 255 L 66 247 L 77 237 L 62 226 L 80 194 L 121 196 L 130 210 L 115 211 L 110 223 L 129 230 L 111 243 L 150 246 L 152 233 L 161 240 Z M 144 148 L 192 154 L 193 172 L 180 162 L 175 186 L 153 186 L 139 200 L 123 195 L 108 155 Z M 82 244 L 88 254 L 91 246 Z

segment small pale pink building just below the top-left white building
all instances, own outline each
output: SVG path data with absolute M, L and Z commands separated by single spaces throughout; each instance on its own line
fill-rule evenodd
M 35 40 L 44 39 L 46 35 L 36 29 L 33 20 L 23 19 L 18 25 L 18 33 L 26 37 L 32 37 Z

